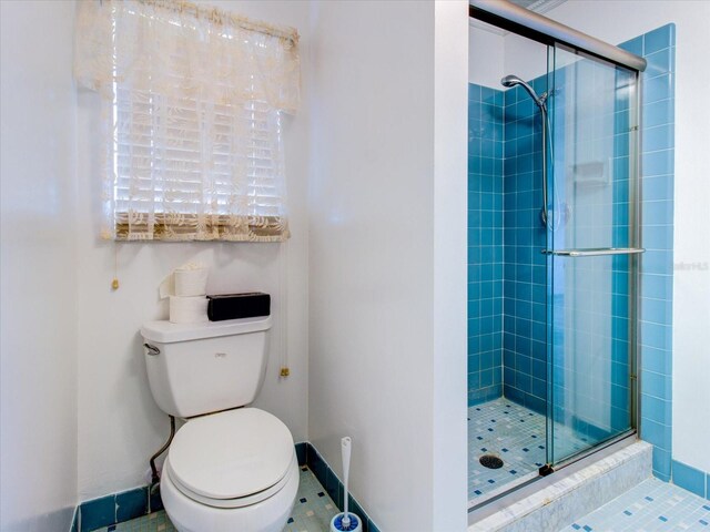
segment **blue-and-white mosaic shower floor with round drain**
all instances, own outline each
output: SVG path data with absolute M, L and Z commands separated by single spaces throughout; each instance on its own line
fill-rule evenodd
M 537 475 L 546 461 L 546 419 L 505 397 L 468 408 L 468 504 Z M 589 447 L 567 427 L 556 429 L 569 453 Z M 480 464 L 484 454 L 503 460 L 499 469 Z

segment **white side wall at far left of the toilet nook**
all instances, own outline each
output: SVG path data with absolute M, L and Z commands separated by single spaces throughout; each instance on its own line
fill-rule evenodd
M 73 4 L 2 1 L 0 20 L 0 530 L 62 531 L 77 502 Z

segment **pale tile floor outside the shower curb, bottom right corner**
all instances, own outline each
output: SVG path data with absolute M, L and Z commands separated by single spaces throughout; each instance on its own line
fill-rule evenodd
M 670 530 L 710 532 L 710 501 L 655 478 L 562 529 L 564 532 Z

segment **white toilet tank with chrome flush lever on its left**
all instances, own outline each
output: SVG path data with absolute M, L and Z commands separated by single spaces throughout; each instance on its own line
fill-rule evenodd
M 266 370 L 271 316 L 141 327 L 155 402 L 181 418 L 252 402 Z

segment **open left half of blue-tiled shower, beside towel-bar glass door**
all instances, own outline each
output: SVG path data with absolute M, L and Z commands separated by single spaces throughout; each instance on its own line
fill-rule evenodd
M 548 92 L 549 50 L 509 34 L 526 68 L 494 72 L 493 33 L 479 25 L 468 85 L 469 508 L 536 479 L 547 452 L 547 144 L 537 102 Z

